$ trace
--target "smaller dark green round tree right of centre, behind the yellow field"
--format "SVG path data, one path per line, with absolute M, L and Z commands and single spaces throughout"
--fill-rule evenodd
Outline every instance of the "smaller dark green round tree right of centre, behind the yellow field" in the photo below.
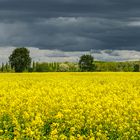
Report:
M 94 58 L 91 55 L 82 55 L 79 60 L 79 67 L 81 71 L 94 71 Z

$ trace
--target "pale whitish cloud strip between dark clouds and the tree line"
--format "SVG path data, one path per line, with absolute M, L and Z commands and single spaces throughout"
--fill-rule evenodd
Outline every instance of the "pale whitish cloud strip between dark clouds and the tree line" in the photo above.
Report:
M 0 47 L 0 64 L 8 62 L 8 57 L 16 47 Z M 35 47 L 28 47 L 34 61 L 39 62 L 77 62 L 81 55 L 89 54 L 88 51 L 64 52 L 60 50 L 41 50 Z M 103 61 L 131 61 L 140 60 L 140 51 L 134 50 L 92 50 L 95 60 Z

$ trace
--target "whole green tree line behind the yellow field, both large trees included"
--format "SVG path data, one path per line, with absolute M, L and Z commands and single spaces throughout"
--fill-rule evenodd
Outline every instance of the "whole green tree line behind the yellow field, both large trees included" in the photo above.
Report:
M 27 48 L 17 48 L 9 56 L 9 62 L 2 63 L 0 72 L 140 72 L 140 61 L 103 62 L 85 54 L 79 62 L 32 62 Z

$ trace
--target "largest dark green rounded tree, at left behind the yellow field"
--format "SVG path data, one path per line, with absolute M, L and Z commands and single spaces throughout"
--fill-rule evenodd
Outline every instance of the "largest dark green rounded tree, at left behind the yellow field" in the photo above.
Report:
M 9 63 L 15 72 L 28 70 L 31 65 L 30 52 L 27 48 L 16 48 L 9 56 Z

